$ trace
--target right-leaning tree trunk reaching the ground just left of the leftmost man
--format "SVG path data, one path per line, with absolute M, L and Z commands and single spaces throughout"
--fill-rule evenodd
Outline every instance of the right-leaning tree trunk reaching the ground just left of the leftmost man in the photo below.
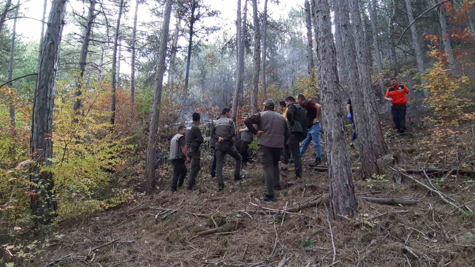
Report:
M 167 55 L 168 30 L 170 28 L 171 0 L 165 6 L 165 18 L 160 40 L 160 54 L 157 62 L 155 78 L 155 94 L 153 96 L 152 117 L 150 119 L 149 138 L 147 146 L 147 163 L 145 165 L 146 192 L 151 195 L 155 189 L 155 153 L 157 150 L 158 119 L 160 115 L 161 90 L 163 88 L 163 73 L 165 72 L 165 57 Z

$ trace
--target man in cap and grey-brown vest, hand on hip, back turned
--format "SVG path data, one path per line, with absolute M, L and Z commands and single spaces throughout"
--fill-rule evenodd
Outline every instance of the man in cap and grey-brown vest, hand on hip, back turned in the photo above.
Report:
M 290 135 L 284 116 L 274 111 L 275 105 L 269 98 L 264 102 L 264 112 L 244 120 L 247 128 L 257 135 L 257 156 L 264 168 L 267 188 L 266 195 L 260 198 L 262 201 L 275 201 L 274 189 L 280 190 L 279 160 Z M 257 129 L 253 124 L 257 124 Z

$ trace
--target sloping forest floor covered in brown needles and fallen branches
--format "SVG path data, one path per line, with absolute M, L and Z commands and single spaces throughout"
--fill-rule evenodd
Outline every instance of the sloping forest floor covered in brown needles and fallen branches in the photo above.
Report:
M 445 165 L 473 169 L 467 145 L 475 138 L 474 125 L 472 134 L 470 125 L 465 125 L 460 126 L 454 140 L 450 136 L 434 140 L 434 131 L 419 121 L 421 114 L 414 108 L 408 113 L 411 133 L 399 135 L 392 130 L 390 113 L 384 108 L 380 117 L 386 141 L 397 158 L 392 168 L 422 168 L 414 162 L 427 162 L 426 168 Z M 351 125 L 346 126 L 350 138 Z M 462 134 L 463 129 L 469 134 Z M 352 161 L 357 162 L 358 151 L 349 148 Z M 276 192 L 276 202 L 257 200 L 265 192 L 263 172 L 257 163 L 241 173 L 244 180 L 227 180 L 222 192 L 217 192 L 216 180 L 202 167 L 196 189 L 191 192 L 181 189 L 171 193 L 167 189 L 153 198 L 138 194 L 132 202 L 114 209 L 63 221 L 49 233 L 15 244 L 22 247 L 22 258 L 29 257 L 29 261 L 11 257 L 7 262 L 36 267 L 257 267 L 284 266 L 281 262 L 285 257 L 290 260 L 287 267 L 474 266 L 475 214 L 456 211 L 390 166 L 385 175 L 371 178 L 361 179 L 355 171 L 358 215 L 329 218 L 327 173 L 306 167 L 313 153 L 309 147 L 303 179 L 294 179 L 293 168 L 282 173 L 283 190 Z M 232 177 L 232 164 L 232 160 L 227 163 L 228 177 Z M 353 168 L 358 169 L 358 164 Z M 407 175 L 431 186 L 423 174 Z M 401 183 L 395 182 L 398 177 L 402 177 Z M 467 182 L 474 177 L 454 174 L 430 180 L 437 191 L 450 195 L 453 203 L 472 201 L 468 206 L 475 210 L 475 183 Z M 417 204 L 384 205 L 361 197 L 417 200 Z M 309 202 L 312 205 L 306 208 L 283 212 Z M 372 219 L 375 215 L 380 216 Z M 214 233 L 197 235 L 215 228 Z M 112 240 L 117 242 L 111 244 Z M 106 246 L 91 249 L 101 245 Z M 13 254 L 19 255 L 18 251 Z

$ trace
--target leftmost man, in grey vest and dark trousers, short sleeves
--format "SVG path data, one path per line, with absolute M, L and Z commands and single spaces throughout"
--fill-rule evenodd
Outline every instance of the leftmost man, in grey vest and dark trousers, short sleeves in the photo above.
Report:
M 186 169 L 185 161 L 190 162 L 190 158 L 186 157 L 186 142 L 185 142 L 186 127 L 178 127 L 178 133 L 171 138 L 170 142 L 170 160 L 173 166 L 173 178 L 171 179 L 171 191 L 177 191 L 178 187 L 183 185 L 185 180 Z

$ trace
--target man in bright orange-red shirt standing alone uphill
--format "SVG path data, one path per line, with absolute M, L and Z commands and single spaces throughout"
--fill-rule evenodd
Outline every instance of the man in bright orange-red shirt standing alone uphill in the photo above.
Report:
M 411 102 L 411 92 L 408 87 L 400 85 L 396 77 L 391 78 L 392 86 L 386 91 L 384 99 L 391 101 L 391 114 L 396 130 L 400 134 L 406 132 L 406 109 Z M 406 94 L 408 98 L 406 99 Z

